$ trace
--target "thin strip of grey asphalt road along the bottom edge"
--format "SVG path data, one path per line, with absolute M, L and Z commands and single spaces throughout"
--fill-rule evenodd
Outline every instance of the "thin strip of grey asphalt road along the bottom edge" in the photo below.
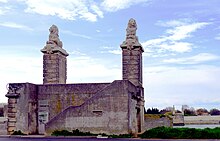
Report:
M 0 137 L 0 141 L 175 141 L 175 139 L 97 139 L 97 138 L 71 138 L 71 137 Z M 195 140 L 184 140 L 179 139 L 177 141 L 195 141 Z M 209 139 L 200 139 L 199 141 L 216 141 Z

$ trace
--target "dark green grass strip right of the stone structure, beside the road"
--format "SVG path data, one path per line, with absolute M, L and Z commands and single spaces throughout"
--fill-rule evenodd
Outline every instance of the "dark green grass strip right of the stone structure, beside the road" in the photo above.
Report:
M 220 128 L 170 128 L 157 127 L 145 131 L 141 138 L 161 138 L 161 139 L 220 139 Z

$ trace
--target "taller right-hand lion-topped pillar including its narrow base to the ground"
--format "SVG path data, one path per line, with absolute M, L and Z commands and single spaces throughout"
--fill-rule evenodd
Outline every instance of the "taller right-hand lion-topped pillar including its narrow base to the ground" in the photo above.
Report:
M 136 117 L 138 132 L 144 129 L 144 88 L 142 86 L 142 53 L 143 47 L 136 36 L 137 24 L 134 19 L 130 19 L 126 29 L 126 39 L 121 44 L 122 49 L 122 77 L 129 80 L 137 88 L 134 99 L 137 100 Z

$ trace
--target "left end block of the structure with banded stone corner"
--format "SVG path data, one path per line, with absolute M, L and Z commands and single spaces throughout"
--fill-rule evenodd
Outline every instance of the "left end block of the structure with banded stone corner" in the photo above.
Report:
M 17 89 L 17 90 L 16 90 Z M 8 133 L 21 130 L 37 133 L 37 86 L 30 83 L 10 83 L 8 99 Z

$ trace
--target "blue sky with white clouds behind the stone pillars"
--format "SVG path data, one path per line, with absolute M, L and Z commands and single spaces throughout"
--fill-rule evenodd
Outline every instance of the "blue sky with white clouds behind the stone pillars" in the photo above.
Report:
M 0 0 L 0 102 L 10 82 L 42 84 L 49 27 L 59 28 L 67 82 L 122 78 L 120 44 L 137 22 L 146 108 L 220 107 L 219 0 Z

